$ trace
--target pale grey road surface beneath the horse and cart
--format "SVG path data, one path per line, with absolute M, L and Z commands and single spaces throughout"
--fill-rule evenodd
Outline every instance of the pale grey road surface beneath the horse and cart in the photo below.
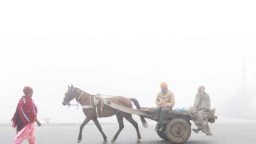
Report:
M 162 140 L 154 131 L 154 123 L 150 122 L 147 129 L 143 128 L 141 124 L 140 134 L 142 135 L 141 143 L 160 143 L 167 144 L 168 141 Z M 194 125 L 192 125 L 194 128 Z M 256 143 L 256 122 L 219 122 L 210 124 L 213 136 L 207 137 L 202 132 L 195 134 L 192 132 L 190 139 L 186 144 L 236 144 L 236 143 Z M 111 143 L 111 139 L 116 134 L 118 126 L 117 124 L 102 124 L 102 129 L 108 136 L 108 143 Z M 43 124 L 41 127 L 36 126 L 36 136 L 38 144 L 72 144 L 77 142 L 77 136 L 79 132 L 78 124 Z M 14 130 L 7 125 L 0 125 L 0 143 L 9 144 L 12 143 L 14 137 Z M 135 143 L 137 134 L 135 128 L 129 123 L 125 123 L 125 128 L 117 138 L 116 143 Z M 102 136 L 96 129 L 93 123 L 89 123 L 83 129 L 83 143 L 102 143 Z M 24 142 L 28 143 L 28 142 Z

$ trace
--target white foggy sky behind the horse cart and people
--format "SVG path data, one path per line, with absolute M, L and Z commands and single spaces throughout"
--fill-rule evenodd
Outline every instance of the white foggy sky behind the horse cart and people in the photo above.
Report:
M 175 107 L 192 106 L 204 85 L 220 120 L 255 120 L 255 4 L 1 1 L 0 122 L 11 121 L 24 86 L 39 120 L 63 123 L 84 119 L 61 103 L 68 84 L 154 107 L 161 82 Z

